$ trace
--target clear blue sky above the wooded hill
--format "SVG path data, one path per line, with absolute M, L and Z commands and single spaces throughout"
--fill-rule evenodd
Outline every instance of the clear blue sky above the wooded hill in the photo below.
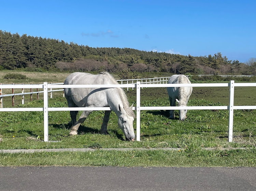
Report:
M 256 57 L 253 0 L 1 1 L 0 30 L 89 47 Z

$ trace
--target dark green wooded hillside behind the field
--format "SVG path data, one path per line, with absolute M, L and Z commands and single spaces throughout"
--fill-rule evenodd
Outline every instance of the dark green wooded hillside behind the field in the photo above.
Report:
M 0 70 L 255 74 L 254 61 L 248 64 L 228 60 L 220 52 L 213 56 L 184 56 L 130 48 L 92 48 L 0 30 Z

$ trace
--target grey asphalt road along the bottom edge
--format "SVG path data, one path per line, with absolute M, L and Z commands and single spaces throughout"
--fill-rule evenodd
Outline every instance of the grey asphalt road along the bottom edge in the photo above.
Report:
M 256 190 L 256 168 L 0 167 L 0 190 Z

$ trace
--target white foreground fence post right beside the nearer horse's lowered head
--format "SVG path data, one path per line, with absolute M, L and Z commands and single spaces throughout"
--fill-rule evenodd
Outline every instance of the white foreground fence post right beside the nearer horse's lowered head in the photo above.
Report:
M 136 84 L 136 139 L 140 141 L 140 82 Z

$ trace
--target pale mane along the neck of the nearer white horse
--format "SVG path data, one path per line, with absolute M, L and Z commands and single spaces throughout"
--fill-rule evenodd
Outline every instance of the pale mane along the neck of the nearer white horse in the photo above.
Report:
M 118 84 L 116 79 L 109 72 L 100 72 L 99 74 L 108 75 L 109 79 L 111 79 L 112 84 Z M 124 110 L 126 111 L 126 114 L 135 119 L 136 118 L 135 114 L 129 106 L 128 98 L 125 94 L 125 91 L 123 90 L 123 88 L 117 88 L 117 92 L 119 93 L 119 96 L 123 102 L 123 106 L 124 106 Z

